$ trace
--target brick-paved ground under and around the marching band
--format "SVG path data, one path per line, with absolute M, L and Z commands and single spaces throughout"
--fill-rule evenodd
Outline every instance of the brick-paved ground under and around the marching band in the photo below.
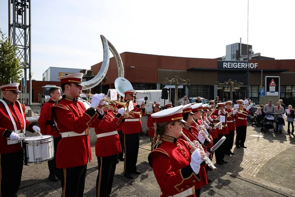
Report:
M 226 156 L 228 164 L 218 165 L 217 172 L 208 172 L 212 183 L 202 189 L 201 197 L 293 197 L 295 196 L 295 136 L 261 133 L 260 128 L 247 128 L 247 149 L 233 148 L 235 155 Z M 97 159 L 95 135 L 90 132 L 92 161 L 88 164 L 85 197 L 95 197 Z M 113 184 L 112 197 L 159 197 L 160 188 L 148 164 L 150 142 L 142 136 L 138 156 L 138 170 L 130 180 L 123 176 L 123 162 L 119 162 Z M 215 159 L 215 158 L 214 158 Z M 213 160 L 215 163 L 215 161 Z M 60 182 L 48 180 L 47 162 L 24 166 L 18 197 L 60 197 Z

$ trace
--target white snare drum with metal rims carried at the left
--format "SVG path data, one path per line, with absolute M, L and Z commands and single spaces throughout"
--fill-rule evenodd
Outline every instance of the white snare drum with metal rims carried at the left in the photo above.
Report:
M 25 156 L 27 156 L 27 163 L 41 164 L 54 158 L 52 135 L 25 138 L 23 147 L 25 149 Z

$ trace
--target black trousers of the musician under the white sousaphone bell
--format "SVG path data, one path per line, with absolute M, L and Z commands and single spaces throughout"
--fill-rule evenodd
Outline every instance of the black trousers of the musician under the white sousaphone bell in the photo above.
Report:
M 134 173 L 136 171 L 136 163 L 139 149 L 139 133 L 124 134 L 124 148 L 124 173 Z

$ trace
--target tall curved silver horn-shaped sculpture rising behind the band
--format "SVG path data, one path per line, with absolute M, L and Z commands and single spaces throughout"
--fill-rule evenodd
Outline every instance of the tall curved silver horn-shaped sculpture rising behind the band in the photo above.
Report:
M 110 64 L 110 51 L 114 55 L 114 58 L 116 60 L 117 66 L 118 66 L 118 77 L 124 77 L 124 67 L 123 62 L 121 59 L 120 54 L 118 53 L 117 49 L 114 47 L 114 45 L 107 39 L 105 36 L 100 35 L 101 41 L 102 41 L 102 47 L 103 47 L 103 62 L 101 65 L 101 68 L 97 75 L 89 80 L 82 82 L 85 87 L 83 87 L 83 90 L 89 90 L 95 86 L 97 86 L 103 78 L 106 76 L 107 71 L 109 69 Z M 109 51 L 110 50 L 110 51 Z M 33 116 L 28 117 L 27 120 L 30 123 L 38 123 L 39 116 Z

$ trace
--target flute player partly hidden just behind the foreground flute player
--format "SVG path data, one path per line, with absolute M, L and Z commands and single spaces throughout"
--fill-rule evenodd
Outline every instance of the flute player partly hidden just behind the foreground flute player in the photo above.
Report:
M 193 116 L 194 113 L 192 112 L 191 104 L 184 105 L 182 108 L 182 117 L 183 120 L 186 121 L 184 123 L 184 127 L 182 128 L 182 132 L 190 139 L 190 141 L 198 140 L 199 137 L 199 130 L 196 127 L 191 127 L 191 124 L 193 123 Z M 203 131 L 202 134 L 203 138 L 205 138 L 206 133 Z M 180 136 L 181 139 L 185 140 L 183 135 Z M 206 165 L 201 165 L 199 175 L 201 177 L 200 182 L 196 182 L 195 185 L 195 193 L 196 195 L 200 195 L 201 188 L 204 185 L 207 185 L 207 172 L 206 172 Z

